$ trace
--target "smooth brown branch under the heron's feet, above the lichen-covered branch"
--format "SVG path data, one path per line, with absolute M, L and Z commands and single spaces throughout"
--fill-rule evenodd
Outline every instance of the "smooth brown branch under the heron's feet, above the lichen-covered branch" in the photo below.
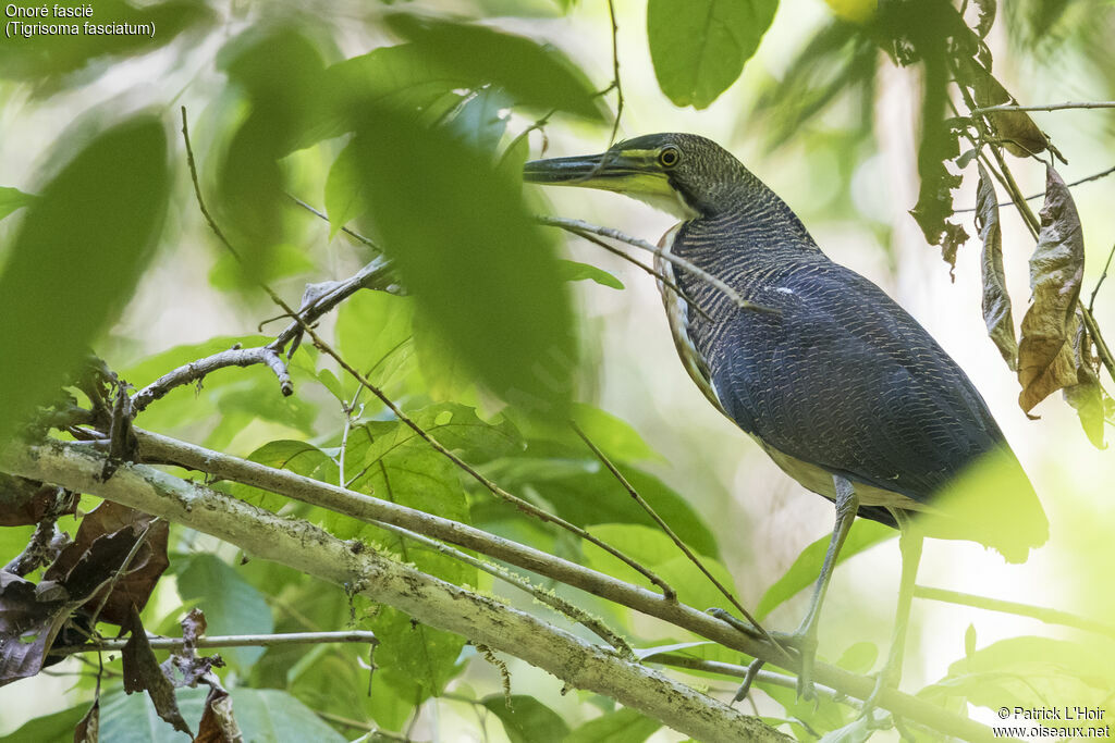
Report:
M 618 580 L 556 555 L 543 553 L 465 524 L 345 490 L 294 472 L 265 467 L 142 429 L 136 429 L 135 433 L 139 441 L 139 456 L 144 461 L 172 463 L 185 469 L 198 470 L 205 472 L 207 477 L 256 487 L 312 506 L 328 508 L 369 524 L 395 524 L 584 590 L 681 627 L 725 647 L 777 664 L 788 671 L 796 671 L 799 667 L 796 659 L 793 662 L 783 659 L 773 645 L 752 638 L 705 612 L 677 600 L 666 599 L 651 590 Z M 100 461 L 100 458 L 96 453 L 97 446 L 95 443 L 54 444 L 46 450 L 40 447 L 32 453 L 21 457 L 18 461 L 11 460 L 13 456 L 11 452 L 0 453 L 0 469 L 7 467 L 13 473 L 38 480 L 67 479 L 72 473 L 72 466 L 69 462 L 81 466 L 84 471 L 85 466 L 81 463 L 85 458 L 94 457 L 94 463 L 89 467 L 98 466 L 97 462 Z M 81 454 L 83 450 L 88 451 L 88 453 Z M 43 451 L 58 453 L 51 454 L 50 462 L 45 462 L 42 461 Z M 59 458 L 62 461 L 58 461 Z M 13 463 L 9 463 L 6 459 Z M 126 467 L 130 468 L 128 469 L 129 473 L 133 471 L 140 473 L 154 471 L 144 466 L 128 465 Z M 52 475 L 49 477 L 37 476 L 37 473 L 45 471 L 52 472 Z M 115 482 L 117 477 L 119 475 L 114 477 L 110 482 Z M 60 482 L 60 485 L 65 486 L 66 482 Z M 97 495 L 103 489 L 100 486 L 97 488 L 86 489 L 83 492 Z M 873 678 L 853 674 L 825 663 L 817 663 L 813 675 L 817 683 L 860 700 L 867 698 L 875 688 Z M 896 691 L 884 690 L 881 692 L 879 706 L 894 713 L 895 716 L 929 725 L 950 735 L 976 741 L 991 740 L 988 730 L 982 725 Z

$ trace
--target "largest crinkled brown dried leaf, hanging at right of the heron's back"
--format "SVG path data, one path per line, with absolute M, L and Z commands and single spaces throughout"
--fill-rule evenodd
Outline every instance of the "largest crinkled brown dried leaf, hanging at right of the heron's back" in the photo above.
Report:
M 1018 404 L 1026 412 L 1050 393 L 1077 384 L 1073 340 L 1084 276 L 1084 233 L 1073 195 L 1046 169 L 1041 231 L 1030 256 L 1031 302 L 1018 344 Z

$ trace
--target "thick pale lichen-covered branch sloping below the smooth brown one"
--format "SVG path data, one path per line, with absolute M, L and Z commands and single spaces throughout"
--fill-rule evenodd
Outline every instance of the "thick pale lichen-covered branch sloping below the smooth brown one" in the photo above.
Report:
M 105 457 L 75 446 L 80 444 L 8 449 L 0 460 L 23 477 L 65 480 L 65 487 L 72 490 L 154 514 L 235 545 L 260 559 L 350 586 L 355 593 L 392 606 L 418 622 L 522 658 L 571 687 L 610 696 L 698 740 L 791 740 L 657 671 L 374 550 L 353 550 L 352 542 L 303 520 L 280 517 L 143 465 L 123 465 L 112 479 L 101 481 Z M 986 731 L 981 725 L 973 730 Z M 990 735 L 985 733 L 985 737 Z

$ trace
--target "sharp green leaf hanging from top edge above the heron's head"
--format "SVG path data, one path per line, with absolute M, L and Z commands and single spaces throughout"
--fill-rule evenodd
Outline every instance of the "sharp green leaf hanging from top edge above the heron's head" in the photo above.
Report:
M 655 75 L 676 106 L 706 108 L 758 49 L 777 0 L 650 0 L 647 38 Z

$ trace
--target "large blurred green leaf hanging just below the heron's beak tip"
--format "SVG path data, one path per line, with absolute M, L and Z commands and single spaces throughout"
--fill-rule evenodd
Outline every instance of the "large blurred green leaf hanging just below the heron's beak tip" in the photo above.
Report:
M 367 111 L 357 141 L 384 248 L 438 336 L 508 401 L 566 407 L 576 368 L 569 297 L 518 185 L 395 111 Z

